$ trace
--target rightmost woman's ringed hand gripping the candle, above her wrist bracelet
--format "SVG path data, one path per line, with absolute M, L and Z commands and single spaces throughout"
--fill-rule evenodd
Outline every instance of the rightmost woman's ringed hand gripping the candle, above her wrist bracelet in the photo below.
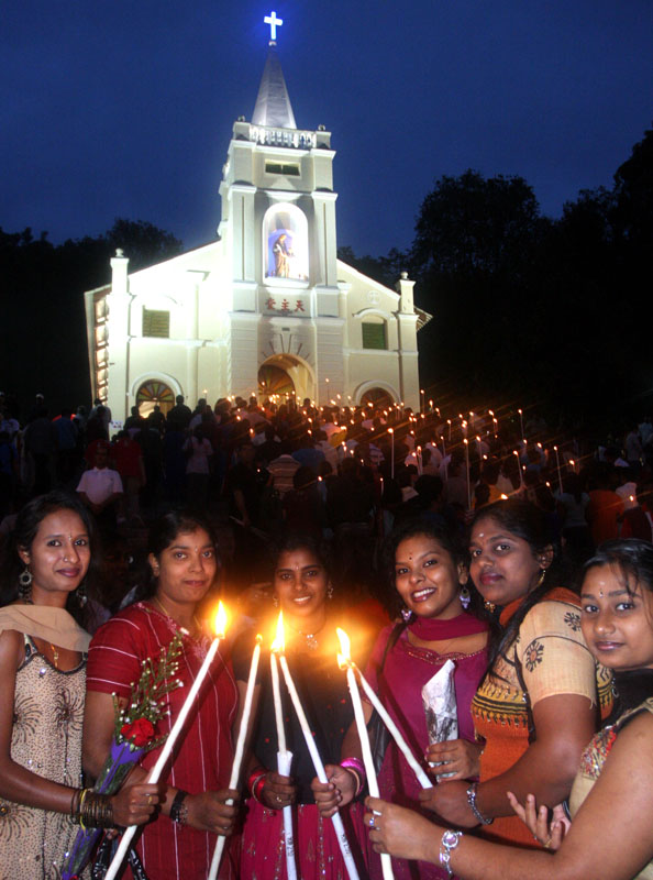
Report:
M 398 859 L 438 862 L 444 828 L 412 810 L 378 798 L 366 798 L 365 806 L 367 813 L 363 821 L 369 828 L 375 853 L 389 853 Z

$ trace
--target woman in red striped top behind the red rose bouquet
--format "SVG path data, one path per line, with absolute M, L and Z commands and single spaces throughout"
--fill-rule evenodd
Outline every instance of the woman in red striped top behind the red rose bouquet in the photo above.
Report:
M 158 657 L 177 632 L 182 652 L 178 678 L 184 686 L 169 695 L 171 729 L 188 689 L 192 685 L 214 634 L 198 618 L 199 603 L 215 579 L 215 540 L 200 517 L 170 513 L 152 527 L 148 562 L 152 584 L 146 600 L 129 606 L 100 627 L 89 651 L 87 702 L 84 723 L 84 763 L 97 776 L 109 752 L 113 734 L 113 700 L 126 701 L 131 683 L 148 657 Z M 231 835 L 237 812 L 228 789 L 233 760 L 231 729 L 239 695 L 231 667 L 219 650 L 201 686 L 197 710 L 177 741 L 169 769 L 164 771 L 161 814 L 137 842 L 137 853 L 152 880 L 206 880 L 215 834 Z M 145 778 L 161 749 L 150 751 L 133 771 Z M 229 845 L 221 861 L 221 880 L 235 880 L 237 846 Z M 129 869 L 125 877 L 130 877 Z

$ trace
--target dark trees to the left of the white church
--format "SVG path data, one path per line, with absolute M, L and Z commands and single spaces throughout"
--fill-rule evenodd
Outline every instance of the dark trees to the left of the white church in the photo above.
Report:
M 117 248 L 130 270 L 144 268 L 181 250 L 169 232 L 143 220 L 118 218 L 103 235 L 48 241 L 0 229 L 0 346 L 2 389 L 19 399 L 45 395 L 55 415 L 63 405 L 88 404 L 90 384 L 84 292 L 109 283 Z

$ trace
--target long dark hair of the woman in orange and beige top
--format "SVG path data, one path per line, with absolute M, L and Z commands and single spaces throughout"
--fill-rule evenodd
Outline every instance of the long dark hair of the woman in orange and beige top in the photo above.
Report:
M 508 501 L 495 502 L 494 504 L 487 505 L 487 507 L 483 507 L 472 521 L 469 537 L 472 536 L 474 527 L 485 519 L 494 519 L 507 532 L 525 541 L 531 548 L 533 557 L 538 557 L 550 548 L 552 548 L 554 552 L 553 561 L 544 571 L 542 582 L 527 595 L 517 612 L 510 618 L 506 629 L 500 627 L 498 619 L 490 618 L 487 675 L 490 672 L 496 674 L 494 667 L 500 657 L 507 659 L 506 651 L 514 641 L 523 618 L 533 605 L 536 605 L 552 588 L 552 585 L 562 578 L 562 570 L 560 560 L 555 556 L 555 542 L 553 541 L 546 517 L 534 504 L 519 498 L 509 498 Z

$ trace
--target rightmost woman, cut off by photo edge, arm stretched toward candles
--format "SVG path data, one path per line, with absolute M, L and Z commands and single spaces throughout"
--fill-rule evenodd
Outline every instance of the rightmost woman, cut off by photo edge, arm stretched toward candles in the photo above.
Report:
M 583 751 L 569 799 L 573 821 L 528 795 L 516 812 L 549 851 L 497 846 L 370 800 L 378 851 L 446 865 L 464 880 L 653 878 L 653 547 L 609 541 L 585 565 L 580 626 L 589 650 L 615 672 L 617 697 Z

